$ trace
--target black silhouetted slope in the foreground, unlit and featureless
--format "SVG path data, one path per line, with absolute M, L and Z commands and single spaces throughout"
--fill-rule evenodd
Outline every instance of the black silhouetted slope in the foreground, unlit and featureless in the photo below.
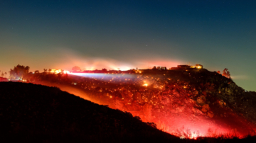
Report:
M 178 138 L 130 113 L 59 88 L 0 83 L 1 139 L 16 142 L 167 142 Z

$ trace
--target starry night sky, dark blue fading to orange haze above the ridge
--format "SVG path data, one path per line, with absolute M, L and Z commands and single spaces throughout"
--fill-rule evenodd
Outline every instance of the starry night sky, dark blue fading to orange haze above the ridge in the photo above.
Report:
M 256 1 L 0 1 L 0 70 L 228 68 L 256 91 Z

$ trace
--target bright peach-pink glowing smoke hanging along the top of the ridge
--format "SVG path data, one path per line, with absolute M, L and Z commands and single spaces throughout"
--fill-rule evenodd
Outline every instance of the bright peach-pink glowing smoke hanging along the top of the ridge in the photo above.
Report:
M 107 70 L 129 70 L 129 69 L 151 69 L 154 66 L 163 66 L 167 68 L 176 67 L 178 64 L 184 63 L 178 60 L 165 59 L 163 57 L 154 56 L 149 59 L 131 58 L 129 62 L 107 58 L 107 57 L 88 57 L 81 55 L 73 50 L 61 49 L 60 57 L 63 61 L 56 63 L 53 68 L 71 70 L 72 67 L 78 66 L 84 70 L 107 69 Z M 123 59 L 126 60 L 126 59 Z

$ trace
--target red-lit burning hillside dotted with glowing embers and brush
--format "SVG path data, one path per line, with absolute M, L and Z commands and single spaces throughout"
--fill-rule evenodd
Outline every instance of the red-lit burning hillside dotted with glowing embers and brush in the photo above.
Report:
M 206 69 L 38 74 L 73 84 L 97 103 L 128 111 L 178 137 L 242 137 L 255 132 L 255 101 L 231 79 Z

